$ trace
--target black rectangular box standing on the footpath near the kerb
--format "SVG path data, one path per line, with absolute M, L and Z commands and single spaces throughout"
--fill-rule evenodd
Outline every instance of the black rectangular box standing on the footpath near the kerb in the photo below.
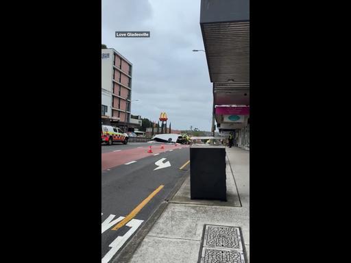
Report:
M 190 197 L 227 201 L 226 147 L 190 147 Z

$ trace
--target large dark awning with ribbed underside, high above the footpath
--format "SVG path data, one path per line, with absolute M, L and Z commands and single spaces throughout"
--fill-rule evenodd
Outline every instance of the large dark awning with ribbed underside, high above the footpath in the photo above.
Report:
M 250 1 L 202 0 L 200 27 L 213 104 L 250 105 Z

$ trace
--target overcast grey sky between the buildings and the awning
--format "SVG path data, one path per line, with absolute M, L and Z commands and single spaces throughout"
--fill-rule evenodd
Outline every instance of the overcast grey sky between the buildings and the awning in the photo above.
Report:
M 210 131 L 212 84 L 199 26 L 200 0 L 102 0 L 101 43 L 133 64 L 132 114 L 173 129 Z M 150 38 L 115 38 L 116 31 L 149 31 Z M 169 124 L 169 122 L 167 123 Z

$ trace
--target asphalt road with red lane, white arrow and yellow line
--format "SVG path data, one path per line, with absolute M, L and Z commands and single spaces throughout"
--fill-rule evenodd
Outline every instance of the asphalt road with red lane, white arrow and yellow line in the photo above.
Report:
M 147 153 L 149 145 L 101 146 L 101 262 L 112 262 L 189 169 L 189 147 L 153 144 Z

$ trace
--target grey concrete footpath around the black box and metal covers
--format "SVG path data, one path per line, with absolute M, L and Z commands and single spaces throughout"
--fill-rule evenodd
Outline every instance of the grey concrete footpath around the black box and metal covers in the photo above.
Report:
M 130 262 L 199 262 L 205 224 L 240 227 L 239 236 L 243 244 L 245 262 L 249 262 L 250 152 L 239 148 L 226 148 L 226 153 L 228 201 L 191 200 L 190 183 L 187 178 L 136 249 Z M 223 257 L 223 254 L 219 255 Z M 204 262 L 214 261 L 207 258 Z M 228 254 L 226 262 L 241 263 L 243 260 L 237 260 L 232 254 Z

